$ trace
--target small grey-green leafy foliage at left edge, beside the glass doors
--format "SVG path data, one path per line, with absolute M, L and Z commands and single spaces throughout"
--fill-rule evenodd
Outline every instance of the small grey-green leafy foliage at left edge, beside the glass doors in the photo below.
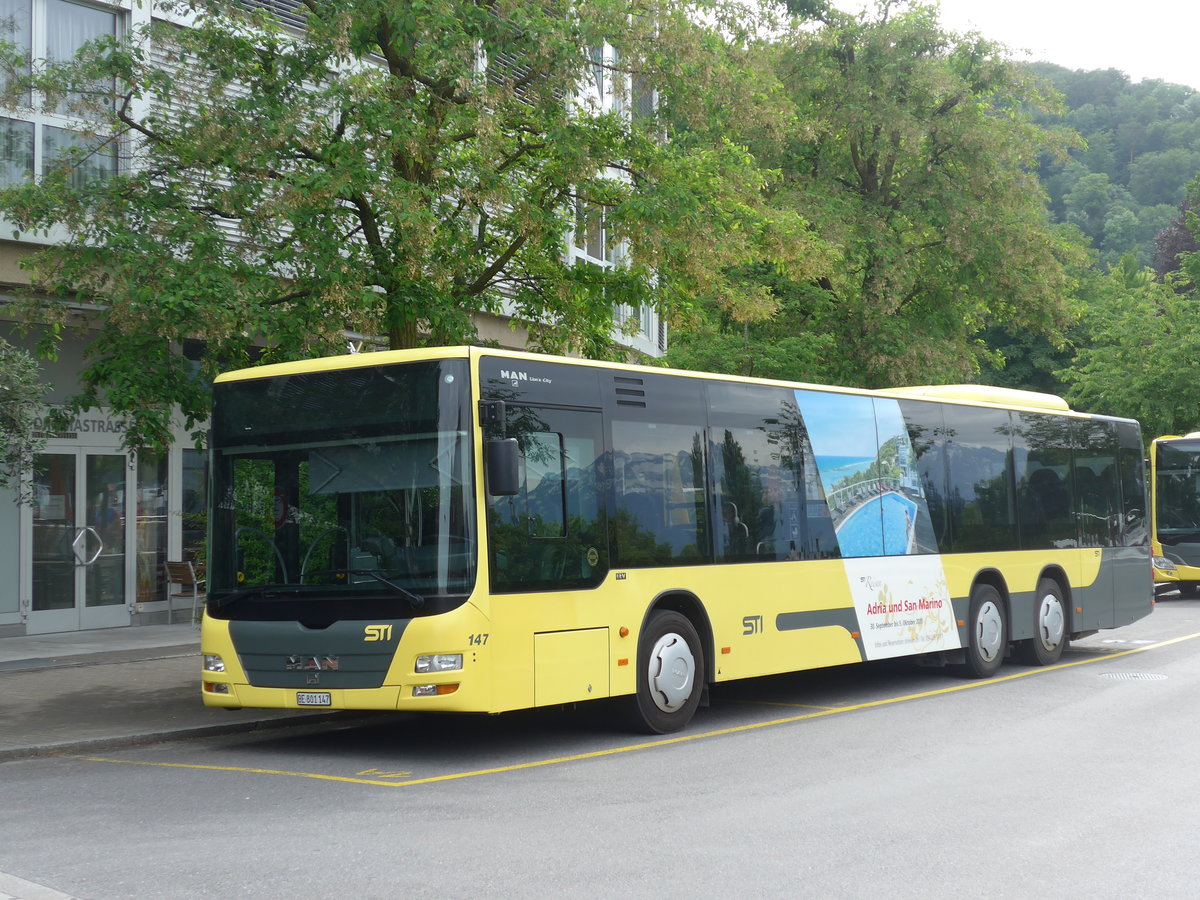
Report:
M 22 478 L 42 444 L 38 418 L 49 385 L 40 378 L 37 360 L 0 337 L 0 490 L 28 500 Z

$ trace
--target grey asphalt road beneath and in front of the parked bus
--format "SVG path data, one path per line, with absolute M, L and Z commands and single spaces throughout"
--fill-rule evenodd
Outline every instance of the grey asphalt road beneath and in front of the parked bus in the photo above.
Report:
M 1198 652 L 1166 600 L 989 682 L 720 685 L 660 739 L 583 706 L 13 761 L 0 898 L 1194 898 Z

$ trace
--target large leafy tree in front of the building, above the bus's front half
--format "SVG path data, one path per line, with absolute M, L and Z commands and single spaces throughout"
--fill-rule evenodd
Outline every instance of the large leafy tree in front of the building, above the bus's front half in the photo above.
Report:
M 618 305 L 744 311 L 763 293 L 731 266 L 816 268 L 742 148 L 673 139 L 718 92 L 750 118 L 769 92 L 733 74 L 750 5 L 307 0 L 301 29 L 244 7 L 170 0 L 187 28 L 155 19 L 8 79 L 10 107 L 94 124 L 0 211 L 70 234 L 30 259 L 31 314 L 102 307 L 74 402 L 125 414 L 134 446 L 169 440 L 173 407 L 202 420 L 208 379 L 252 354 L 336 353 L 347 330 L 472 341 L 482 311 L 535 349 L 605 356 Z M 114 145 L 130 164 L 84 178 Z M 568 236 L 601 222 L 602 264 L 569 264 Z M 173 349 L 186 338 L 204 342 L 199 377 Z

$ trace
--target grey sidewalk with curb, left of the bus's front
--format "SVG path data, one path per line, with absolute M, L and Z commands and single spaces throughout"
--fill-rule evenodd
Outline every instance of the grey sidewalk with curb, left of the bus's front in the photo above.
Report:
M 200 632 L 191 624 L 0 637 L 0 762 L 336 715 L 210 709 L 199 683 Z

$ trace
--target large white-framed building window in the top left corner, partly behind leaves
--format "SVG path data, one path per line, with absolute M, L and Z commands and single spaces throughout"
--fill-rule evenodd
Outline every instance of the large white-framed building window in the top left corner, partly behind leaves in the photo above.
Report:
M 118 13 L 109 8 L 68 0 L 0 0 L 0 34 L 25 52 L 25 73 L 34 60 L 70 60 L 89 41 L 115 36 L 119 26 Z M 0 184 L 30 181 L 77 148 L 86 152 L 71 174 L 73 186 L 116 174 L 115 145 L 92 134 L 79 118 L 82 95 L 68 95 L 54 107 L 29 95 L 22 101 L 22 109 L 0 116 Z

